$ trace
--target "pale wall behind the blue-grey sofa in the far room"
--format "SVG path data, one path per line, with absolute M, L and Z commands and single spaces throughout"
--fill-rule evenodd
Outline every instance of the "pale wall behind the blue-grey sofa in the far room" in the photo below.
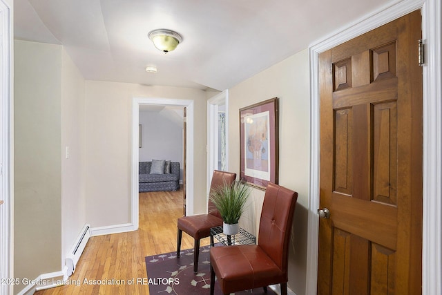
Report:
M 161 111 L 140 111 L 142 125 L 142 148 L 139 149 L 140 162 L 172 160 L 183 158 L 183 108 L 161 108 Z M 182 176 L 180 178 L 182 180 Z

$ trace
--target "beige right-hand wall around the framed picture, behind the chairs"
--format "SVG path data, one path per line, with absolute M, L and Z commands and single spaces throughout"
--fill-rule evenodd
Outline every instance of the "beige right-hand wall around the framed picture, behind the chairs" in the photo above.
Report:
M 289 288 L 305 294 L 307 272 L 307 204 L 309 198 L 309 59 L 303 50 L 234 86 L 229 91 L 229 166 L 239 173 L 239 109 L 279 97 L 279 184 L 297 191 L 289 253 Z M 264 191 L 253 189 L 242 226 L 256 232 Z

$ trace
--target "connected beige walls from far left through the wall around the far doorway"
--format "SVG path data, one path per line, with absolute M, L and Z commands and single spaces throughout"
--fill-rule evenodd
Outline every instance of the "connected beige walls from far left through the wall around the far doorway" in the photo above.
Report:
M 15 277 L 59 272 L 85 222 L 131 222 L 133 97 L 194 101 L 193 210 L 205 211 L 204 91 L 85 82 L 62 46 L 15 41 Z

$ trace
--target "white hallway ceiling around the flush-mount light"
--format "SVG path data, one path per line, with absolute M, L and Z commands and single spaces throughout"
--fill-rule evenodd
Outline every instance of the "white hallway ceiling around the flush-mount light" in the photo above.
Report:
M 14 30 L 62 44 L 85 79 L 222 91 L 389 2 L 15 0 Z M 147 37 L 157 28 L 179 32 L 182 44 L 157 50 Z

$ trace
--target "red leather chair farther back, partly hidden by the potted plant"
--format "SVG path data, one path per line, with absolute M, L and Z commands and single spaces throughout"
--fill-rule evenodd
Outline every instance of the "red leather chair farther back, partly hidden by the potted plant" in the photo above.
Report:
M 221 185 L 231 185 L 236 180 L 236 173 L 213 171 L 210 189 Z M 200 254 L 200 239 L 210 236 L 211 227 L 222 225 L 222 217 L 215 205 L 209 199 L 207 214 L 184 216 L 178 218 L 177 257 L 180 257 L 182 232 L 184 231 L 195 240 L 193 247 L 193 272 L 198 272 L 198 256 Z

